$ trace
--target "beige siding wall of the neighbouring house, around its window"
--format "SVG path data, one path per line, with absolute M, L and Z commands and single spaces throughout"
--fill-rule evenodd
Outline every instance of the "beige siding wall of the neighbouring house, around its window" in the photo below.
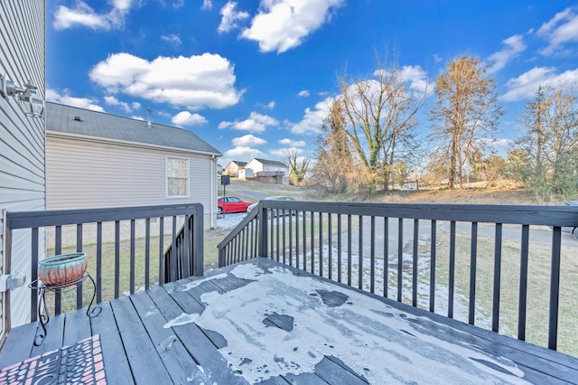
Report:
M 189 159 L 186 198 L 166 195 L 167 156 Z M 205 228 L 217 210 L 217 192 L 210 188 L 216 183 L 216 165 L 209 155 L 70 139 L 49 131 L 46 164 L 47 210 L 200 202 Z

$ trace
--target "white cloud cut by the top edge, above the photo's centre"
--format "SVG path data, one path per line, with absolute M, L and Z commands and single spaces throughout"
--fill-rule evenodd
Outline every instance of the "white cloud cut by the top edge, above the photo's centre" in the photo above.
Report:
M 285 52 L 301 44 L 343 3 L 344 0 L 262 0 L 259 13 L 241 37 L 258 42 L 262 52 Z

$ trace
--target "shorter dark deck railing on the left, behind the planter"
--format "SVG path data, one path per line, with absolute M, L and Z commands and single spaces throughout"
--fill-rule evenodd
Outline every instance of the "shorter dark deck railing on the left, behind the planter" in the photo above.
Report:
M 184 223 L 185 230 L 177 236 L 179 221 Z M 22 241 L 28 237 L 27 233 L 31 239 L 23 241 L 31 245 L 29 253 L 14 256 L 13 239 L 19 236 Z M 87 271 L 95 280 L 97 303 L 183 277 L 202 276 L 203 208 L 200 203 L 190 203 L 7 212 L 6 273 L 11 273 L 14 258 L 30 258 L 31 321 L 37 319 L 38 296 L 34 288 L 39 285 L 39 258 L 69 251 L 87 252 Z M 76 288 L 76 308 L 87 305 L 87 292 L 91 292 L 92 287 L 84 286 Z M 66 310 L 61 292 L 55 292 L 52 301 L 54 314 Z

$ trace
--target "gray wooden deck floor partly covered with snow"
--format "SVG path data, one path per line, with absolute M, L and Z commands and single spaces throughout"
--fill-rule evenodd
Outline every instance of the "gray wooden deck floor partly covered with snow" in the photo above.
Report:
M 578 383 L 576 358 L 266 258 L 100 305 L 39 347 L 14 328 L 0 368 L 98 336 L 109 384 Z

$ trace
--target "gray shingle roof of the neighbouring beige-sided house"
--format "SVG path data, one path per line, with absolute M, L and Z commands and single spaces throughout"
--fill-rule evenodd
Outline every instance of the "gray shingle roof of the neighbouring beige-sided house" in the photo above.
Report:
M 143 120 L 53 102 L 46 102 L 45 116 L 46 129 L 51 131 L 222 155 L 193 132 L 178 127 L 152 123 L 149 128 Z

